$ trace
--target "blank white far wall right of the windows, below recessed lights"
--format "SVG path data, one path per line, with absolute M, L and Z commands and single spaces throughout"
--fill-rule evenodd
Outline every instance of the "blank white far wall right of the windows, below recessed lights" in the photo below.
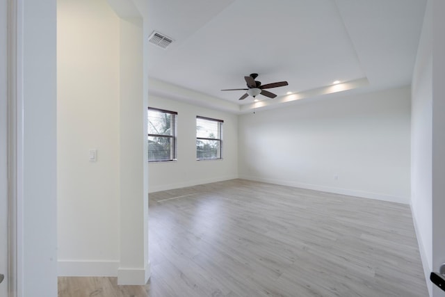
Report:
M 241 115 L 238 147 L 241 178 L 408 203 L 410 88 Z

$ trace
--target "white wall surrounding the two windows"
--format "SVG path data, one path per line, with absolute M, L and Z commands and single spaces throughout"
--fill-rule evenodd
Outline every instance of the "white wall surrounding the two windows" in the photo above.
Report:
M 220 182 L 238 177 L 238 116 L 149 95 L 148 106 L 177 111 L 177 161 L 150 162 L 150 192 Z M 223 159 L 196 160 L 196 116 L 224 120 Z

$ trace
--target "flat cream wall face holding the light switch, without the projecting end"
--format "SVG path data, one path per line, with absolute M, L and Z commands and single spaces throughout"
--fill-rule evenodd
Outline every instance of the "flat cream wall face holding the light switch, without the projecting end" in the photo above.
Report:
M 58 0 L 57 14 L 58 274 L 116 275 L 120 19 L 106 0 Z

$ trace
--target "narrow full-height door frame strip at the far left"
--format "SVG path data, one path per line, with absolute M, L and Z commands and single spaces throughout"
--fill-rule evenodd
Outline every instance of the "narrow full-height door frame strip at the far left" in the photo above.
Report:
M 23 0 L 8 0 L 8 294 L 23 296 Z

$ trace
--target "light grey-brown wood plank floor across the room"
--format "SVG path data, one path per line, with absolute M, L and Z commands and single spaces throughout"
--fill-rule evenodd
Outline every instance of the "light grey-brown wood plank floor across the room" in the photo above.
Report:
M 242 179 L 150 194 L 149 257 L 58 296 L 428 296 L 409 206 Z

